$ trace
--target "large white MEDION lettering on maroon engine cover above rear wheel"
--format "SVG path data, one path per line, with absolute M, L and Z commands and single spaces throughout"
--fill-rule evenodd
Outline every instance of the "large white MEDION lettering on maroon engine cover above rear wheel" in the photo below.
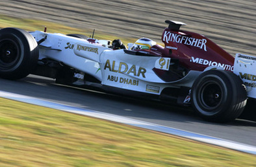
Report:
M 202 65 L 222 67 L 222 68 L 224 68 L 224 70 L 228 70 L 228 71 L 233 71 L 234 70 L 234 66 L 227 65 L 227 64 L 224 64 L 224 63 L 218 63 L 216 61 L 206 60 L 206 59 L 203 59 L 203 58 L 194 58 L 193 56 L 191 57 L 190 62 L 198 63 L 198 64 L 202 64 Z

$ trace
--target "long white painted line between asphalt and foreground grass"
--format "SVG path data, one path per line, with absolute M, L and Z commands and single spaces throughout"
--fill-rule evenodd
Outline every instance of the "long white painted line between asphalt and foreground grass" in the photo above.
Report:
M 157 124 L 152 124 L 152 123 L 149 123 L 149 122 L 135 120 L 135 119 L 132 119 L 132 118 L 120 117 L 118 115 L 112 115 L 112 114 L 109 114 L 109 113 L 103 113 L 103 112 L 99 112 L 99 111 L 81 109 L 81 108 L 78 108 L 78 107 L 66 106 L 64 104 L 58 104 L 58 103 L 55 103 L 55 102 L 40 100 L 38 98 L 32 98 L 30 96 L 17 95 L 17 94 L 8 93 L 8 92 L 5 92 L 5 91 L 0 91 L 0 96 L 3 97 L 3 98 L 16 100 L 16 101 L 19 101 L 19 102 L 35 104 L 35 105 L 38 105 L 38 106 L 49 107 L 49 108 L 53 108 L 53 109 L 58 109 L 58 110 L 70 112 L 70 113 L 77 113 L 77 114 L 81 114 L 81 115 L 87 115 L 87 116 L 90 116 L 90 117 L 102 118 L 102 119 L 110 120 L 110 121 L 113 121 L 113 122 L 119 122 L 119 123 L 122 123 L 122 124 L 136 126 L 136 127 L 139 127 L 139 128 L 145 128 L 145 129 L 151 129 L 151 130 L 154 130 L 154 131 L 160 131 L 162 133 L 177 135 L 179 137 L 185 137 L 187 139 L 197 140 L 199 142 L 214 144 L 216 146 L 222 146 L 224 148 L 229 148 L 229 149 L 232 149 L 232 150 L 242 151 L 242 152 L 251 153 L 251 154 L 256 155 L 256 147 L 255 146 L 250 146 L 250 145 L 246 145 L 246 144 L 242 144 L 242 143 L 238 143 L 238 142 L 233 142 L 233 141 L 230 141 L 230 140 L 218 139 L 218 138 L 215 138 L 215 137 L 200 135 L 198 133 L 191 133 L 189 131 L 183 131 L 183 130 L 180 130 L 180 129 L 174 129 L 174 128 L 169 128 L 169 127 L 166 127 L 166 126 L 160 126 L 160 125 L 157 125 Z

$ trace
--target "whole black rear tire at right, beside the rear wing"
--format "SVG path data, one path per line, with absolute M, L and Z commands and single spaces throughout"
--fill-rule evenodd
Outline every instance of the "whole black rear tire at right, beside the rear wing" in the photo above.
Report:
M 205 71 L 196 78 L 191 91 L 192 106 L 205 120 L 229 122 L 239 117 L 247 101 L 246 87 L 233 72 Z

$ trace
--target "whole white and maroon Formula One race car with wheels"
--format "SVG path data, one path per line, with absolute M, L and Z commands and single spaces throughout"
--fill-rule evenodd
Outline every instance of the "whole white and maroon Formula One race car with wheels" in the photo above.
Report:
M 238 118 L 246 103 L 256 100 L 256 57 L 234 58 L 205 36 L 180 30 L 184 23 L 165 22 L 165 47 L 132 50 L 114 50 L 111 41 L 82 34 L 2 28 L 0 77 L 36 74 L 57 83 L 192 106 L 212 122 Z

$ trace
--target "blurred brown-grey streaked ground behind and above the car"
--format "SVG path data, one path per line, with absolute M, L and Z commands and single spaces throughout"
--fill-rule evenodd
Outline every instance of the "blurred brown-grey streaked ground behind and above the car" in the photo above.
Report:
M 0 6 L 0 14 L 82 28 L 87 36 L 95 28 L 96 33 L 146 37 L 159 44 L 167 27 L 164 21 L 182 21 L 187 24 L 183 30 L 207 36 L 232 56 L 237 52 L 256 56 L 255 0 L 1 0 Z

